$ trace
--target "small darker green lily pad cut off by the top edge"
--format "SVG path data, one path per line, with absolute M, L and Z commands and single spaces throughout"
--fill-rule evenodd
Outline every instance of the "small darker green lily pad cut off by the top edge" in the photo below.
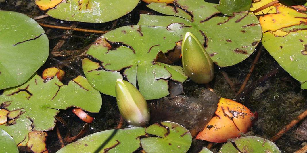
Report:
M 252 0 L 220 0 L 220 5 L 216 6 L 221 13 L 233 16 L 233 12 L 248 11 L 251 8 Z

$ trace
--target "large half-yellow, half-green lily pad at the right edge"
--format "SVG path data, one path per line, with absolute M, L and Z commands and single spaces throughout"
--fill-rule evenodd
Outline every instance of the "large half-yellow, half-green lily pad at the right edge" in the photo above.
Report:
M 262 44 L 291 76 L 307 89 L 307 14 L 275 4 L 276 14 L 259 18 Z M 274 44 L 274 45 L 272 45 Z

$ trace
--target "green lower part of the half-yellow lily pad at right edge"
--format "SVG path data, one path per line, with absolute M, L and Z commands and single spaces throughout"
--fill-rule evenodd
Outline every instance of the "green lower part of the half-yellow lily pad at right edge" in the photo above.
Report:
M 307 30 L 290 32 L 285 36 L 275 36 L 270 32 L 263 34 L 262 44 L 274 59 L 291 76 L 307 89 Z M 274 44 L 274 45 L 272 45 Z

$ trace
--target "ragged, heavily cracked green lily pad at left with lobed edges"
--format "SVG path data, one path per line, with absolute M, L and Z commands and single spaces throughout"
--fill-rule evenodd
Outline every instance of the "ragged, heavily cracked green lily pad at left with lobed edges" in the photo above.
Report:
M 4 90 L 0 95 L 0 106 L 10 111 L 7 117 L 11 119 L 0 128 L 6 130 L 16 144 L 25 145 L 29 132 L 54 128 L 54 117 L 59 109 L 74 106 L 99 112 L 101 105 L 100 93 L 83 76 L 64 85 L 57 78 L 46 82 L 36 75 L 25 84 Z

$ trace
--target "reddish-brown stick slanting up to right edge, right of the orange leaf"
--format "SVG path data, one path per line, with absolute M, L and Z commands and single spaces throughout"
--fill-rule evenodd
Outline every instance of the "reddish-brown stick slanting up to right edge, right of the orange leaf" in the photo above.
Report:
M 284 128 L 282 128 L 280 131 L 278 131 L 273 137 L 271 137 L 271 141 L 275 142 L 280 137 L 282 137 L 283 134 L 285 134 L 287 131 L 289 131 L 293 126 L 295 126 L 298 122 L 303 120 L 307 117 L 307 110 L 305 110 L 303 113 L 299 114 L 294 120 L 292 120 L 288 125 L 286 125 Z

